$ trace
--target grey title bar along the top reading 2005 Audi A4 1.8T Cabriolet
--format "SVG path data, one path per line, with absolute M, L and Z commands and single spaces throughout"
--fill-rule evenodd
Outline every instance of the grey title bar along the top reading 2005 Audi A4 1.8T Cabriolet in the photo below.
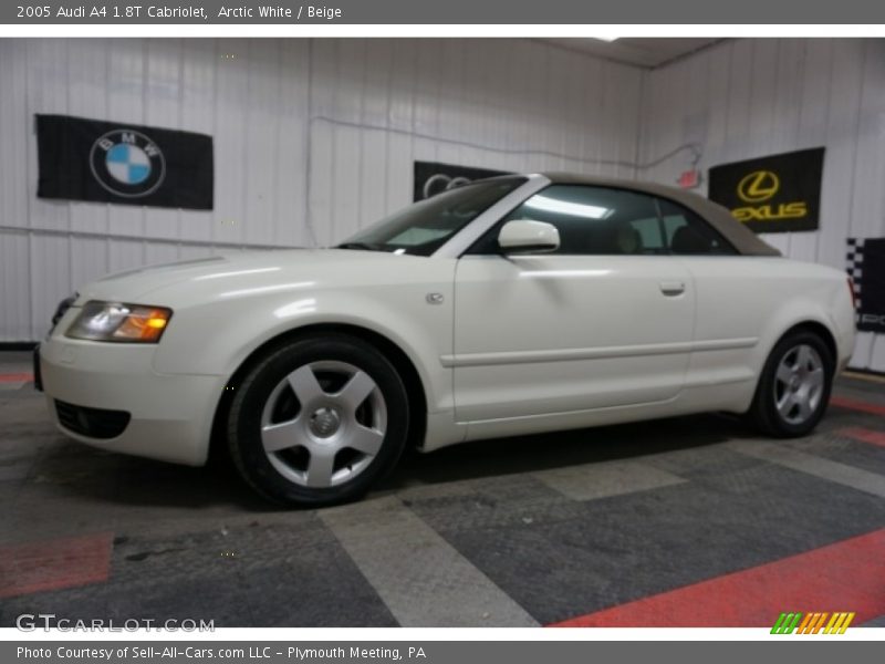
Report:
M 192 0 L 0 3 L 0 24 L 876 24 L 870 0 Z M 591 35 L 589 35 L 591 37 Z

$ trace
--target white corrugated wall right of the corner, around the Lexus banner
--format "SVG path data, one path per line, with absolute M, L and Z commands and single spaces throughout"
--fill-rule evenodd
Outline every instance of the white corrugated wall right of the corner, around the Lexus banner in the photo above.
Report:
M 792 258 L 844 269 L 847 237 L 885 236 L 885 40 L 727 41 L 652 71 L 642 160 L 680 143 L 699 144 L 705 173 L 825 146 L 820 230 L 763 237 Z M 639 177 L 675 184 L 690 157 Z M 885 371 L 885 335 L 860 333 L 852 366 Z

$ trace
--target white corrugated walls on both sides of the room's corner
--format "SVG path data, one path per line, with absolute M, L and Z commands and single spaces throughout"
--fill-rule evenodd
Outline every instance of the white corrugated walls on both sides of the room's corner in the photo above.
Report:
M 35 197 L 34 113 L 191 129 L 216 209 Z M 885 236 L 885 41 L 737 40 L 645 72 L 528 40 L 0 40 L 0 342 L 112 270 L 250 246 L 325 245 L 410 200 L 415 159 L 673 184 L 826 146 L 822 228 L 767 239 L 844 267 Z M 885 371 L 885 336 L 853 365 Z

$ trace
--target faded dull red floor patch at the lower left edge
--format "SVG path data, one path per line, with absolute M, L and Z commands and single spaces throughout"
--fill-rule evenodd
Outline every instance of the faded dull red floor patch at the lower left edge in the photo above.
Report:
M 0 547 L 0 598 L 107 580 L 112 535 Z

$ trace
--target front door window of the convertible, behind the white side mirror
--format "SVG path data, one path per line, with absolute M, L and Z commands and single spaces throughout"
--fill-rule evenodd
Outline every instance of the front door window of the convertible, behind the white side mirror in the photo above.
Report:
M 501 224 L 516 219 L 555 226 L 560 231 L 560 248 L 554 253 L 666 252 L 655 199 L 625 189 L 553 185 L 529 198 Z M 471 253 L 493 251 L 501 224 L 480 240 Z

